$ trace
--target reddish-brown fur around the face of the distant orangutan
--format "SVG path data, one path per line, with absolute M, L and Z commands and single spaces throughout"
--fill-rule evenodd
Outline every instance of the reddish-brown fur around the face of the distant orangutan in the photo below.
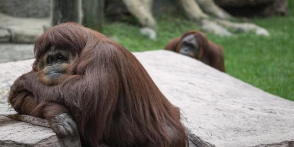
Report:
M 225 72 L 222 48 L 214 42 L 209 41 L 202 32 L 196 30 L 187 31 L 181 37 L 172 39 L 164 49 L 180 52 L 182 47 L 181 40 L 190 34 L 195 35 L 199 46 L 198 56 L 195 58 L 211 67 Z

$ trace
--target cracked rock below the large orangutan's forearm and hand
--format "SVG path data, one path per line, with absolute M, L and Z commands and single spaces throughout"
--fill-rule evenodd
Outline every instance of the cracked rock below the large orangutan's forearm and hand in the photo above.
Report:
M 57 138 L 46 120 L 16 112 L 0 104 L 0 147 L 80 147 L 78 135 Z

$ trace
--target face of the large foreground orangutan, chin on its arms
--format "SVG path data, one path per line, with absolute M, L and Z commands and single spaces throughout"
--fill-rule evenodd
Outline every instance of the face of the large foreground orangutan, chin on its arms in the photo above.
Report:
M 64 49 L 51 47 L 39 62 L 38 76 L 46 85 L 57 85 L 71 75 L 72 54 Z

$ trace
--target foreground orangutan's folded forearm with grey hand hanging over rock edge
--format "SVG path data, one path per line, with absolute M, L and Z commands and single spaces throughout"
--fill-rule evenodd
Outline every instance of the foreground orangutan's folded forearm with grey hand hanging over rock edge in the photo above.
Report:
M 26 74 L 31 74 L 31 72 Z M 12 105 L 14 110 L 19 114 L 47 119 L 50 127 L 59 137 L 73 135 L 77 130 L 77 126 L 72 120 L 68 109 L 54 102 L 39 103 L 34 96 L 22 86 L 22 84 L 25 83 L 24 75 L 19 77 L 10 88 L 8 102 Z

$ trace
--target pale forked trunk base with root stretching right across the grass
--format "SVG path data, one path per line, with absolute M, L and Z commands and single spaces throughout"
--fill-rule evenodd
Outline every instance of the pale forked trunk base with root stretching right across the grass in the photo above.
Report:
M 231 29 L 239 32 L 254 32 L 257 35 L 269 36 L 269 32 L 257 25 L 249 23 L 233 23 L 226 21 L 225 19 L 231 18 L 229 14 L 223 11 L 221 8 L 215 5 L 212 0 L 180 0 L 186 15 L 191 20 L 201 25 L 201 29 L 214 33 L 220 36 L 231 36 L 227 29 Z M 220 19 L 210 19 L 205 13 L 202 12 L 197 3 L 202 6 L 202 9 L 206 12 L 212 13 Z

